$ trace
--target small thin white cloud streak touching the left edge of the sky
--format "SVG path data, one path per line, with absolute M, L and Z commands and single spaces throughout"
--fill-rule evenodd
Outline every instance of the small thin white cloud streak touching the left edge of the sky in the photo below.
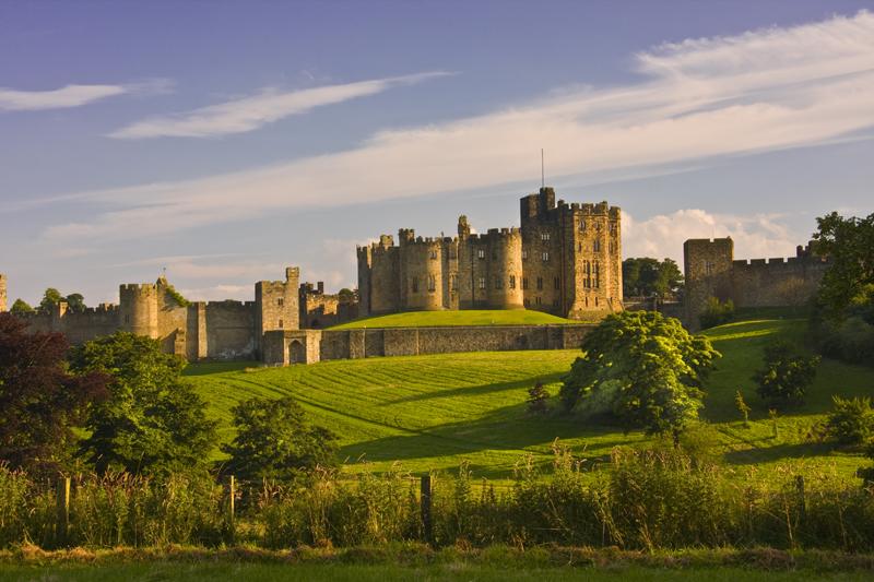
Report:
M 67 85 L 50 91 L 0 87 L 0 111 L 68 109 L 118 95 L 166 93 L 170 87 L 172 83 L 165 79 L 125 85 Z

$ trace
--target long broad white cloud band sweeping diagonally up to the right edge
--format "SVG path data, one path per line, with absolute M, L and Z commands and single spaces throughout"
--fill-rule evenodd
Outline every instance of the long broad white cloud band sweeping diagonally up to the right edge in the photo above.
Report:
M 354 150 L 272 167 L 76 194 L 106 212 L 44 236 L 132 238 L 275 209 L 520 182 L 539 176 L 541 146 L 551 176 L 617 176 L 829 143 L 874 127 L 870 12 L 664 45 L 636 59 L 645 76 L 627 86 L 574 90 L 488 115 L 382 131 Z

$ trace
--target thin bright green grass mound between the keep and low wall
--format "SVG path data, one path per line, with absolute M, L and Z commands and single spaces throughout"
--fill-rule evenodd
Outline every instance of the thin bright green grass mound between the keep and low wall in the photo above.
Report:
M 357 328 L 437 328 L 446 325 L 532 325 L 542 323 L 581 323 L 543 311 L 528 309 L 471 309 L 463 311 L 410 311 L 362 318 L 334 325 L 332 330 Z

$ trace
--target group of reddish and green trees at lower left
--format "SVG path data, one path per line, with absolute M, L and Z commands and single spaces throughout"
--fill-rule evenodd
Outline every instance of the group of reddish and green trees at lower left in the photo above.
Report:
M 216 423 L 157 341 L 119 332 L 70 349 L 0 313 L 0 462 L 39 474 L 92 468 L 165 475 L 209 468 Z M 334 463 L 334 437 L 292 399 L 233 411 L 223 451 L 240 478 L 288 479 Z

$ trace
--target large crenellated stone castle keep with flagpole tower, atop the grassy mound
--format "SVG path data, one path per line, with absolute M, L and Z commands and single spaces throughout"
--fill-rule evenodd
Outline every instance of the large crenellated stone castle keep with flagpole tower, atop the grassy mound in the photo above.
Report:
M 556 204 L 555 190 L 520 201 L 520 228 L 416 237 L 358 247 L 359 314 L 440 309 L 534 309 L 574 319 L 621 311 L 621 212 L 606 202 Z

